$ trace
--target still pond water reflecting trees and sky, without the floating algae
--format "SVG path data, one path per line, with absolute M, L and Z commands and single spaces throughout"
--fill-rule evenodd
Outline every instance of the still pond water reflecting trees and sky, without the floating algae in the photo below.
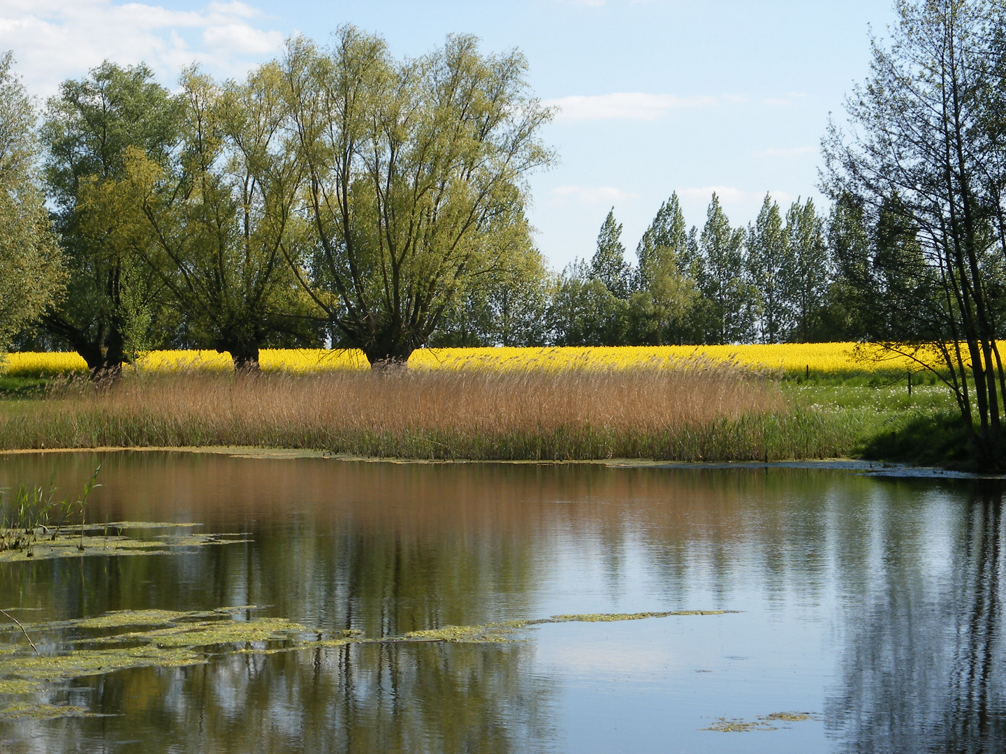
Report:
M 0 751 L 1006 747 L 1003 498 L 988 484 L 118 452 L 0 456 L 0 486 L 54 473 L 75 492 L 98 463 L 92 521 L 197 522 L 245 541 L 3 564 L 0 607 L 41 623 L 257 605 L 369 637 L 736 612 L 88 676 L 47 686 L 44 701 L 102 716 L 0 721 Z M 43 652 L 64 648 L 47 641 Z M 724 721 L 746 725 L 717 730 Z

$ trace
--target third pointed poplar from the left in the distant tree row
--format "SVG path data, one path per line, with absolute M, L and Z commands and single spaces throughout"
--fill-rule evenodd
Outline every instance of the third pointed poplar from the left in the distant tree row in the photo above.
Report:
M 758 292 L 748 279 L 745 240 L 744 229 L 730 227 L 713 193 L 699 236 L 696 272 L 707 343 L 742 343 L 751 338 Z

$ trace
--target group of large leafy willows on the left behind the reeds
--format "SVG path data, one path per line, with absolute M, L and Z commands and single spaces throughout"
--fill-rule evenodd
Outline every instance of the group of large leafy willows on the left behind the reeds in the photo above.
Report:
M 551 113 L 526 71 L 474 37 L 396 59 L 347 26 L 243 81 L 191 67 L 172 91 L 106 62 L 36 125 L 8 54 L 0 348 L 70 348 L 95 374 L 151 348 L 407 359 L 471 291 L 541 267 L 524 204 Z

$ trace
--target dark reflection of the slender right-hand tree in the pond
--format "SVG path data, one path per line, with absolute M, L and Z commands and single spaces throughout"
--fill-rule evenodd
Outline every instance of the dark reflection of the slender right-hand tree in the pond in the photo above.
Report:
M 962 500 L 946 571 L 889 546 L 872 564 L 826 710 L 842 751 L 1002 751 L 1003 492 L 981 485 Z

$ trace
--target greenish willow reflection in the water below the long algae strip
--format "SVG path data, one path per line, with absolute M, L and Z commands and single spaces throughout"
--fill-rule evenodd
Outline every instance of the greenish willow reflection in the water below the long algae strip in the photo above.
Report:
M 548 748 L 547 682 L 529 644 L 384 644 L 231 656 L 95 684 L 99 711 L 45 726 L 47 751 L 74 741 L 118 751 L 533 752 Z M 128 713 L 128 714 L 127 714 Z

